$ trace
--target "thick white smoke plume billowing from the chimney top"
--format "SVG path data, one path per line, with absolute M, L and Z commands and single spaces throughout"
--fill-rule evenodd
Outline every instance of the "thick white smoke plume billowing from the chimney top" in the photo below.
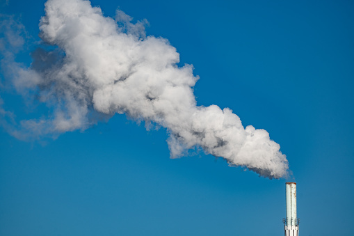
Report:
M 171 157 L 199 146 L 259 175 L 287 176 L 287 159 L 266 130 L 245 129 L 230 109 L 197 106 L 193 66 L 177 66 L 179 54 L 168 40 L 146 37 L 146 21 L 132 24 L 121 10 L 115 19 L 104 17 L 81 0 L 49 0 L 45 13 L 40 37 L 59 49 L 33 52 L 32 67 L 15 76 L 15 85 L 17 91 L 38 90 L 53 114 L 22 127 L 60 134 L 86 129 L 102 114 L 126 113 L 165 127 Z

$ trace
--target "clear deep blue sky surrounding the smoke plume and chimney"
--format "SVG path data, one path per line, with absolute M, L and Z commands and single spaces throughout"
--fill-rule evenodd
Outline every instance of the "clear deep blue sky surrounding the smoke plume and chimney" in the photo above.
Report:
M 353 1 L 91 2 L 147 19 L 148 35 L 194 65 L 198 105 L 266 129 L 293 175 L 259 178 L 203 152 L 169 159 L 166 130 L 124 115 L 33 143 L 0 129 L 0 235 L 283 235 L 285 182 L 298 184 L 300 235 L 352 234 Z M 44 3 L 0 11 L 39 40 Z M 19 120 L 42 116 L 13 91 L 1 97 Z

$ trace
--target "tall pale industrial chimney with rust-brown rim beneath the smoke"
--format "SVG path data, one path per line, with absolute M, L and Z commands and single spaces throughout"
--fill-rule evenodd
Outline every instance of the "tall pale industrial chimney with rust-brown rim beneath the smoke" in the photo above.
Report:
M 298 236 L 299 219 L 296 218 L 296 182 L 285 183 L 287 218 L 283 219 L 285 236 Z

